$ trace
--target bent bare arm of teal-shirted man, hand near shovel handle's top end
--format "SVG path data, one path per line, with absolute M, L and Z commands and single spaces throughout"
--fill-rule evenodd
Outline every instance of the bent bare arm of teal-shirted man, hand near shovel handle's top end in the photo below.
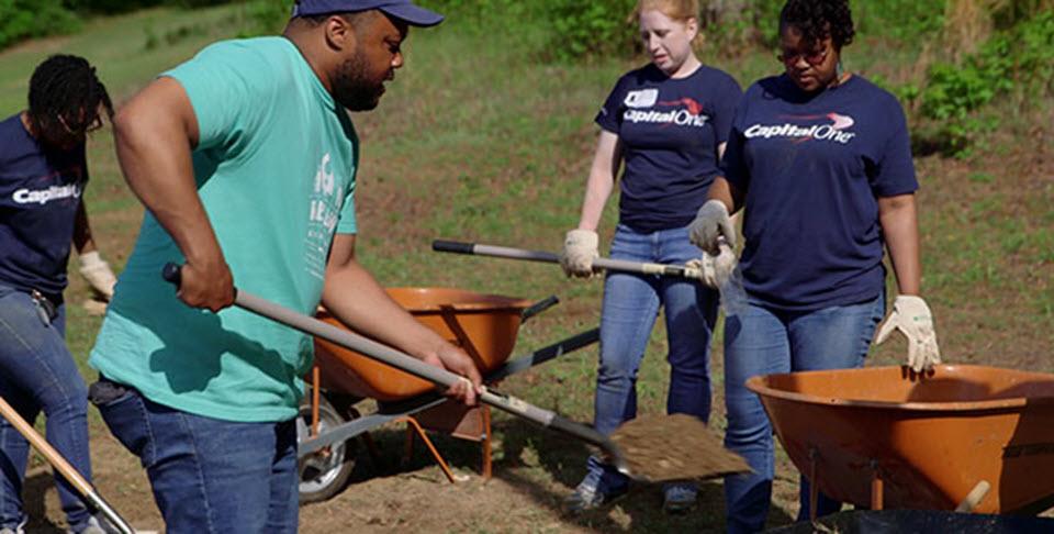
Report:
M 121 109 L 113 125 L 125 180 L 187 258 L 179 298 L 212 311 L 231 305 L 231 269 L 194 183 L 198 119 L 187 92 L 159 78 Z

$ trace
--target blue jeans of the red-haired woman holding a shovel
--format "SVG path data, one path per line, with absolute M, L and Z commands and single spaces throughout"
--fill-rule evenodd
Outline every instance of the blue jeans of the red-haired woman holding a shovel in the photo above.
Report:
M 612 257 L 632 262 L 684 264 L 703 252 L 688 242 L 687 229 L 641 234 L 619 224 Z M 608 272 L 601 311 L 601 365 L 596 376 L 593 425 L 607 435 L 637 416 L 637 371 L 648 340 L 665 309 L 670 352 L 666 412 L 710 416 L 710 334 L 717 321 L 717 292 L 684 278 Z M 595 456 L 585 482 L 602 492 L 621 490 L 628 479 Z

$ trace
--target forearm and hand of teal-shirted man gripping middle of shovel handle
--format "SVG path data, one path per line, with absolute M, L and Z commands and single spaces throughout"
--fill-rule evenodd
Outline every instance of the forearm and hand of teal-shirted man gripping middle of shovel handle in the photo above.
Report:
M 352 234 L 337 234 L 333 241 L 322 303 L 357 332 L 468 378 L 473 388 L 459 383 L 448 394 L 467 404 L 475 403 L 475 392 L 482 379 L 472 359 L 417 322 L 388 296 L 377 279 L 355 259 Z

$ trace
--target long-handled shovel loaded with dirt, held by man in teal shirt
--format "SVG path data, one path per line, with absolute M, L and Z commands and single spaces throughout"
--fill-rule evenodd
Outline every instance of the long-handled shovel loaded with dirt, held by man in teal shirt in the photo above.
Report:
M 179 287 L 179 269 L 178 265 L 168 264 L 165 266 L 161 276 Z M 464 378 L 448 370 L 425 364 L 394 348 L 245 291 L 235 291 L 234 304 L 305 334 L 356 351 L 437 386 L 450 388 L 464 380 Z M 623 429 L 619 429 L 613 437 L 608 437 L 588 426 L 564 419 L 552 411 L 538 408 L 515 397 L 498 393 L 492 389 L 484 389 L 479 398 L 481 402 L 513 415 L 599 447 L 615 468 L 633 478 L 652 481 L 710 478 L 750 470 L 741 457 L 726 450 L 717 437 L 706 431 L 703 423 L 695 418 L 684 415 L 682 415 L 682 418 L 685 418 L 684 420 L 677 420 L 676 416 L 644 418 L 636 421 L 635 423 L 638 424 L 632 427 L 627 424 L 626 426 L 629 429 L 621 436 L 619 432 Z M 673 425 L 670 424 L 671 422 Z M 673 442 L 681 442 L 681 446 L 676 446 L 677 444 Z M 624 450 L 630 452 L 632 457 L 627 458 Z M 632 470 L 630 466 L 632 466 Z M 673 468 L 671 469 L 671 467 Z

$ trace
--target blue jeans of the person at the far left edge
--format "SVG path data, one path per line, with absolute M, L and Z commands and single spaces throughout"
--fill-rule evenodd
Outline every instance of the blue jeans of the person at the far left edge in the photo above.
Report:
M 91 480 L 88 450 L 88 389 L 66 347 L 66 311 L 53 318 L 21 290 L 0 286 L 0 396 L 30 424 L 43 410 L 48 443 Z M 0 527 L 23 519 L 22 485 L 30 445 L 0 418 Z M 74 532 L 85 529 L 89 512 L 80 493 L 55 471 L 58 499 Z

